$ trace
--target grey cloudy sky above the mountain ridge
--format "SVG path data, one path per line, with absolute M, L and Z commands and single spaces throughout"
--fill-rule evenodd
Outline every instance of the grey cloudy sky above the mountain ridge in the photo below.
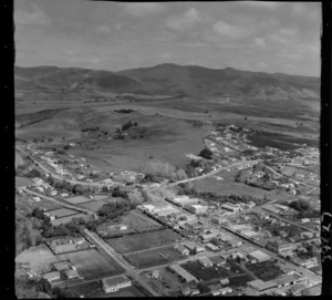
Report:
M 15 0 L 15 64 L 160 63 L 320 76 L 319 2 Z

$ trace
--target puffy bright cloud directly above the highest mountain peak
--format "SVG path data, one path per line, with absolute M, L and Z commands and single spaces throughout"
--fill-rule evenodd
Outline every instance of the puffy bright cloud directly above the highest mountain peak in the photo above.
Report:
M 201 18 L 200 12 L 195 8 L 190 8 L 183 15 L 168 18 L 165 24 L 166 28 L 172 31 L 186 31 L 203 22 L 204 19 Z

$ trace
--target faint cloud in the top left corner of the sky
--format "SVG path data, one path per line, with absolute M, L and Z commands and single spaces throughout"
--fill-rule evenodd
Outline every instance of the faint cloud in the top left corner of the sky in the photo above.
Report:
M 18 10 L 14 12 L 14 21 L 17 24 L 44 25 L 50 23 L 50 18 L 37 4 L 32 3 L 32 12 Z

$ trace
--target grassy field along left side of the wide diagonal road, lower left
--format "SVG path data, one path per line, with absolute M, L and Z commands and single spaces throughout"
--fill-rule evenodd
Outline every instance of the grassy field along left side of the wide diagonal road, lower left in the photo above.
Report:
M 77 271 L 87 280 L 123 273 L 121 266 L 96 249 L 56 256 L 59 260 L 71 260 Z

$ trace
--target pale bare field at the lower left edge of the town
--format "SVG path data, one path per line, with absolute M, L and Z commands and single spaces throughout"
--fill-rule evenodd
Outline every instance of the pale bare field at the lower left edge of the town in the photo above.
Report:
M 15 263 L 28 262 L 31 270 L 37 273 L 50 271 L 52 268 L 50 263 L 58 260 L 58 257 L 44 244 L 27 249 L 15 257 Z

